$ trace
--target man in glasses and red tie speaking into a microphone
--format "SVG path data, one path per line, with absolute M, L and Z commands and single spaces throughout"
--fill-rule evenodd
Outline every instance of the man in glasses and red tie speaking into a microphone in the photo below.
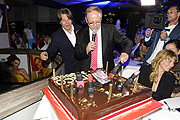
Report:
M 75 46 L 75 57 L 82 60 L 81 70 L 105 69 L 108 61 L 108 71 L 111 71 L 114 68 L 113 50 L 115 43 L 122 46 L 119 62 L 126 62 L 131 54 L 133 41 L 119 32 L 115 25 L 101 24 L 102 11 L 96 6 L 86 9 L 85 19 L 88 26 L 78 31 Z M 95 42 L 92 41 L 94 36 Z M 97 51 L 96 55 L 93 55 L 93 51 Z

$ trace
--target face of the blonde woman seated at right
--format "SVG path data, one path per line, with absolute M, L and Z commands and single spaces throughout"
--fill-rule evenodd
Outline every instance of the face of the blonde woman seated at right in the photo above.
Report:
M 164 59 L 159 64 L 159 72 L 168 72 L 172 67 L 174 67 L 175 57 Z

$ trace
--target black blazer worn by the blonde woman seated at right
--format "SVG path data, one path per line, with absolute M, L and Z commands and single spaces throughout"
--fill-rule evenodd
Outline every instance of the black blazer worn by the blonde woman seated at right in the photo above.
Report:
M 153 83 L 150 82 L 149 76 L 152 72 L 151 65 L 142 65 L 138 82 L 142 85 L 152 88 Z M 155 100 L 170 98 L 175 86 L 175 76 L 171 72 L 164 72 L 156 92 L 153 92 L 152 97 Z

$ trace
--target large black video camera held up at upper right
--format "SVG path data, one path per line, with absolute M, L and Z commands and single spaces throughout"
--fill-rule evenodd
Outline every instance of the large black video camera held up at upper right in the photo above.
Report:
M 163 30 L 165 27 L 166 14 L 146 13 L 145 28 Z

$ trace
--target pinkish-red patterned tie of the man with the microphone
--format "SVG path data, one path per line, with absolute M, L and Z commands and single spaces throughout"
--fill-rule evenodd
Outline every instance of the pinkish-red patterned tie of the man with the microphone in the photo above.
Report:
M 93 70 L 97 69 L 97 53 L 98 53 L 98 37 L 95 37 L 95 49 L 91 52 L 91 68 Z

